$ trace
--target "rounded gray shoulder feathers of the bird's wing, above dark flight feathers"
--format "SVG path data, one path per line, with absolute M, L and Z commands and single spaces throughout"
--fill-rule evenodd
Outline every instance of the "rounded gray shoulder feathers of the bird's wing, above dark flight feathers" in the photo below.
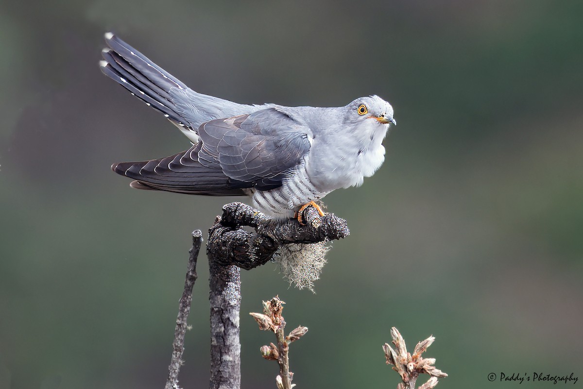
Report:
M 310 150 L 310 128 L 276 108 L 204 123 L 199 162 L 258 190 L 282 185 Z

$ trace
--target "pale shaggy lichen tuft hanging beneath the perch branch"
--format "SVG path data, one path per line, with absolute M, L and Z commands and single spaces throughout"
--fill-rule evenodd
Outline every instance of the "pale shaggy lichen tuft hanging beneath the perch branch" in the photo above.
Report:
M 273 259 L 279 263 L 283 276 L 290 284 L 298 289 L 308 288 L 314 292 L 314 281 L 320 278 L 326 264 L 325 256 L 330 248 L 328 241 L 293 243 L 279 247 Z

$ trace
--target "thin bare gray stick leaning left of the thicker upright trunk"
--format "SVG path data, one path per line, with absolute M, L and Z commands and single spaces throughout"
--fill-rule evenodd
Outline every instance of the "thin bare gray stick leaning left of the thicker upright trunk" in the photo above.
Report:
M 192 287 L 198 277 L 196 275 L 196 260 L 198 253 L 201 250 L 202 232 L 196 229 L 192 232 L 192 247 L 188 251 L 190 257 L 188 259 L 188 270 L 186 273 L 186 280 L 184 281 L 184 292 L 180 298 L 178 307 L 178 317 L 176 319 L 176 327 L 174 329 L 174 342 L 172 344 L 172 359 L 170 366 L 168 366 L 168 380 L 164 389 L 178 388 L 178 372 L 182 365 L 182 353 L 184 352 L 184 334 L 187 329 L 188 313 L 190 312 L 190 305 L 192 302 Z

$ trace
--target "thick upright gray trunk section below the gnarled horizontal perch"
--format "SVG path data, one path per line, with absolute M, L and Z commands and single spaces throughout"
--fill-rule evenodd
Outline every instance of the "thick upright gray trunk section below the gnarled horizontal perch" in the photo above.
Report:
M 208 246 L 207 246 L 208 247 Z M 239 312 L 241 277 L 237 266 L 222 266 L 211 253 L 210 272 L 210 389 L 239 389 L 241 344 Z

